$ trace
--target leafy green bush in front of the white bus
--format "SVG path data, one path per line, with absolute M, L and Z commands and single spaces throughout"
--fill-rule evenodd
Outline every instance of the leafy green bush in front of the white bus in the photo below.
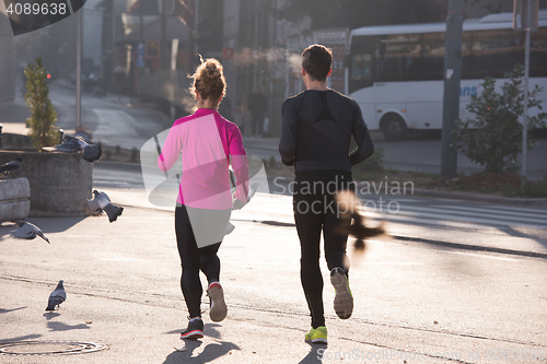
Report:
M 524 111 L 523 66 L 516 64 L 513 72 L 505 74 L 510 78 L 496 92 L 496 80 L 487 77 L 481 84 L 480 95 L 472 95 L 467 110 L 476 115 L 475 119 L 456 121 L 454 137 L 457 148 L 473 162 L 485 167 L 488 173 L 517 172 L 520 168 L 519 153 L 522 151 L 522 124 L 520 119 Z M 528 92 L 528 110 L 542 110 L 542 101 L 535 96 L 542 89 L 535 85 Z M 535 140 L 529 134 L 534 128 L 544 127 L 546 113 L 536 116 L 528 114 L 528 144 L 529 150 Z

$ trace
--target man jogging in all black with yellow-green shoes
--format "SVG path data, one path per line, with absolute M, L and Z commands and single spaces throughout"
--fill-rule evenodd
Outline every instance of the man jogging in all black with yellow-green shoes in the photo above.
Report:
M 346 255 L 348 235 L 337 232 L 349 221 L 341 219 L 334 201 L 338 190 L 352 189 L 351 166 L 374 152 L 359 105 L 327 86 L 331 61 L 330 50 L 322 45 L 312 45 L 302 52 L 306 91 L 284 101 L 279 142 L 282 162 L 294 165 L 293 210 L 301 245 L 300 277 L 312 316 L 312 329 L 305 340 L 314 343 L 327 343 L 319 269 L 322 232 L 330 282 L 336 291 L 335 312 L 347 319 L 353 310 Z M 351 136 L 358 148 L 349 153 Z

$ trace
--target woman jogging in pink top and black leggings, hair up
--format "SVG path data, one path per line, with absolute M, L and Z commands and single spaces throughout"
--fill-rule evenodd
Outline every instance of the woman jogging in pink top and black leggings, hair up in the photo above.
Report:
M 183 162 L 175 233 L 183 267 L 181 289 L 189 322 L 181 339 L 203 337 L 200 270 L 209 284 L 210 319 L 222 321 L 226 316 L 217 251 L 232 206 L 241 209 L 247 201 L 248 191 L 248 164 L 240 129 L 218 113 L 226 87 L 222 64 L 216 59 L 206 59 L 191 79 L 198 109 L 173 124 L 158 157 L 158 166 L 163 172 L 171 169 L 179 155 Z M 230 164 L 237 178 L 233 204 Z

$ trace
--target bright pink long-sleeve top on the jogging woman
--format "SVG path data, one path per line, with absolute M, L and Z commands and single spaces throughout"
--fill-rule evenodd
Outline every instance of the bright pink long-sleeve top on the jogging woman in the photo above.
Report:
M 179 155 L 183 171 L 178 203 L 199 209 L 230 209 L 230 163 L 237 180 L 235 198 L 247 201 L 248 161 L 240 129 L 217 110 L 200 108 L 173 124 L 158 166 L 167 172 Z

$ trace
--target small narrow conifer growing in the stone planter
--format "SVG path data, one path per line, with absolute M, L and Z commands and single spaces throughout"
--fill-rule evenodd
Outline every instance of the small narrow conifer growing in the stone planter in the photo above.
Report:
M 40 58 L 36 58 L 36 63 L 28 63 L 25 67 L 25 101 L 31 109 L 31 117 L 26 119 L 26 122 L 31 128 L 30 136 L 34 148 L 42 149 L 46 145 L 53 145 L 59 132 L 55 127 L 57 111 L 48 96 L 47 72 Z

